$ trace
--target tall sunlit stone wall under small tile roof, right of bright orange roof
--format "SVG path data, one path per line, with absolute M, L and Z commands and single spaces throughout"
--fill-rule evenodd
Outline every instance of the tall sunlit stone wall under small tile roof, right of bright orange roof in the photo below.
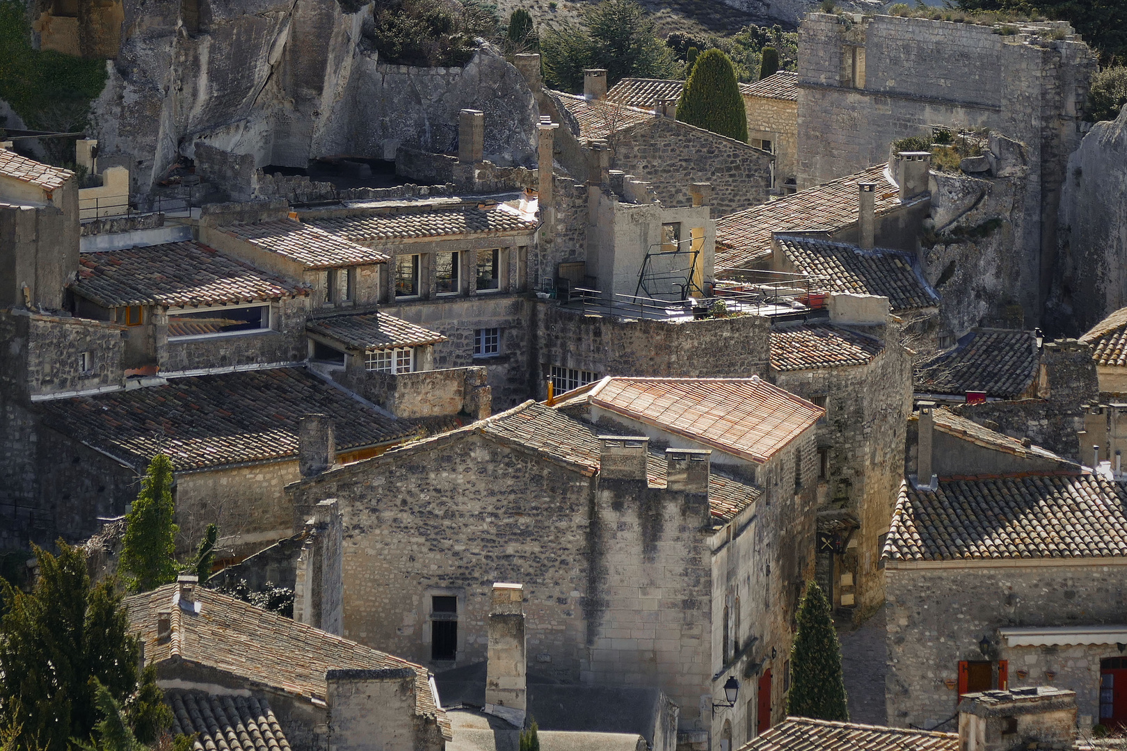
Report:
M 818 481 L 818 510 L 849 510 L 860 521 L 850 547 L 835 562 L 833 583 L 833 605 L 841 605 L 843 593 L 853 594 L 859 622 L 885 599 L 878 563 L 904 476 L 912 358 L 895 327 L 857 330 L 885 337 L 884 349 L 869 365 L 772 370 L 772 381 L 804 399 L 826 397 L 826 417 L 816 432 L 818 447 L 828 452 L 829 476 Z M 842 585 L 842 573 L 852 574 L 852 587 Z

